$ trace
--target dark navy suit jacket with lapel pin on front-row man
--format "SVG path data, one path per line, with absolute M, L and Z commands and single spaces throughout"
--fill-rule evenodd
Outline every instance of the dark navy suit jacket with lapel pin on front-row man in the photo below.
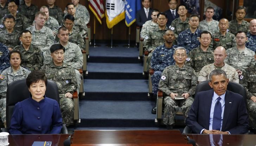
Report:
M 186 119 L 186 125 L 194 133 L 200 134 L 202 129 L 209 130 L 212 96 L 213 89 L 196 94 Z M 248 113 L 243 97 L 227 90 L 222 131 L 229 131 L 230 134 L 244 134 L 248 132 L 248 127 Z

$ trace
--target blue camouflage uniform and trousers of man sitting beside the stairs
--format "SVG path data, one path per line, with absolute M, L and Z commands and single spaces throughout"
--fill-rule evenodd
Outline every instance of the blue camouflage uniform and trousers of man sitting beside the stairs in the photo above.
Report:
M 174 65 L 175 61 L 173 59 L 174 49 L 177 45 L 172 45 L 171 48 L 166 48 L 165 44 L 159 46 L 152 53 L 151 67 L 154 69 L 154 74 L 151 77 L 152 80 L 152 90 L 154 94 L 158 92 L 158 83 L 161 78 L 162 71 L 165 67 Z

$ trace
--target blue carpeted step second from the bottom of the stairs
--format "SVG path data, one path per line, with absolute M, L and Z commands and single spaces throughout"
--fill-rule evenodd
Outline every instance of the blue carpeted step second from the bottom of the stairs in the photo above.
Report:
M 84 79 L 81 100 L 149 100 L 148 80 Z

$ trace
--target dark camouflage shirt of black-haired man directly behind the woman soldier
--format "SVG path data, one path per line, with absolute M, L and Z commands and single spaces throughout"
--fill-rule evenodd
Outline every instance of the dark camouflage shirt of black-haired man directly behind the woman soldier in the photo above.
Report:
M 21 52 L 22 61 L 20 65 L 28 68 L 30 71 L 40 69 L 43 66 L 43 52 L 36 46 L 30 45 L 26 51 L 23 45 L 18 45 L 13 50 Z

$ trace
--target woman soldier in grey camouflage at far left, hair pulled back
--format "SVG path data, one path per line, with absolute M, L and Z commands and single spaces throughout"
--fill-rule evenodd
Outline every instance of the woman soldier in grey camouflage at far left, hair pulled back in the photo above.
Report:
M 9 54 L 11 67 L 6 68 L 0 75 L 0 116 L 6 127 L 6 91 L 11 82 L 26 79 L 30 71 L 20 66 L 21 53 L 13 50 Z

